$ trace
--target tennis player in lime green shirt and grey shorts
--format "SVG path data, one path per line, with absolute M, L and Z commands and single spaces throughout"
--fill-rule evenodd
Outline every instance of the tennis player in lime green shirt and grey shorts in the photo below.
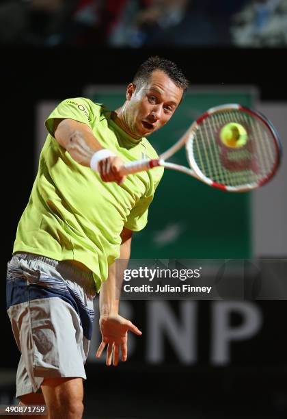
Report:
M 130 257 L 163 169 L 123 177 L 120 168 L 157 157 L 146 137 L 169 121 L 187 84 L 176 64 L 151 57 L 118 110 L 67 99 L 46 120 L 49 135 L 8 264 L 7 303 L 21 353 L 16 397 L 22 405 L 46 404 L 49 418 L 83 415 L 97 292 L 97 357 L 107 346 L 106 364 L 116 366 L 126 361 L 128 331 L 141 335 L 118 312 L 115 259 Z

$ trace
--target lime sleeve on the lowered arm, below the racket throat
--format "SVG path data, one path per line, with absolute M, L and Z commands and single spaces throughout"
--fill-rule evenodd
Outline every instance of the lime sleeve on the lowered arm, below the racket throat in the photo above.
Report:
M 150 188 L 150 194 L 139 199 L 137 205 L 133 207 L 130 214 L 128 215 L 128 219 L 124 225 L 124 227 L 132 231 L 140 231 L 146 227 L 148 223 L 148 207 L 154 199 L 154 192 L 157 186 L 159 186 L 159 182 L 163 176 L 163 168 L 155 168 L 153 170 L 154 177 L 152 177 L 152 187 Z

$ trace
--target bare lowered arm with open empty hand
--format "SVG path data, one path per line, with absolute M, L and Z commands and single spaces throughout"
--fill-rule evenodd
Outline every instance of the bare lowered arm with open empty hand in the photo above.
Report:
M 112 359 L 113 365 L 118 365 L 120 357 L 120 349 L 122 351 L 122 361 L 127 358 L 127 339 L 128 331 L 132 331 L 136 335 L 141 335 L 141 331 L 137 329 L 130 320 L 120 316 L 118 313 L 120 305 L 120 290 L 122 288 L 122 279 L 124 269 L 128 265 L 128 259 L 131 255 L 131 239 L 133 231 L 124 228 L 121 233 L 122 244 L 120 245 L 120 259 L 124 259 L 126 263 L 121 264 L 122 272 L 117 272 L 117 278 L 121 283 L 116 283 L 115 263 L 109 266 L 109 275 L 107 281 L 102 283 L 100 288 L 100 331 L 102 333 L 102 342 L 98 347 L 96 357 L 102 355 L 102 351 L 107 346 L 106 365 L 110 366 Z M 116 290 L 118 288 L 117 295 Z

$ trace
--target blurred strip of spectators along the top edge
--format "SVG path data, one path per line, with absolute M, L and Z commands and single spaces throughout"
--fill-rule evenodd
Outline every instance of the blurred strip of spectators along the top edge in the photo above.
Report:
M 0 43 L 286 47 L 287 0 L 0 0 Z

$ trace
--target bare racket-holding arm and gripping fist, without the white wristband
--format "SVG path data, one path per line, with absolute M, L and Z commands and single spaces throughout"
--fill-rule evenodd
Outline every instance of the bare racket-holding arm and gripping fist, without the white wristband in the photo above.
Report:
M 64 147 L 72 158 L 83 166 L 90 167 L 93 155 L 103 149 L 92 129 L 77 120 L 56 118 L 53 131 L 61 147 Z M 121 167 L 122 160 L 118 156 L 113 155 L 100 160 L 98 172 L 102 181 L 122 183 L 125 177 L 119 174 Z

